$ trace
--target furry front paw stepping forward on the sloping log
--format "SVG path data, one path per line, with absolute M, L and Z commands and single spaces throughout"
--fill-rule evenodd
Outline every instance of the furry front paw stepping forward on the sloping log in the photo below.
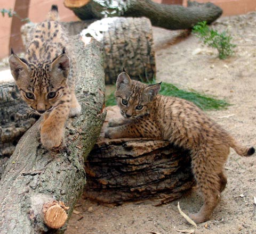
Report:
M 44 129 L 44 126 L 41 128 L 41 143 L 46 149 L 60 146 L 62 136 L 62 130 L 54 128 Z

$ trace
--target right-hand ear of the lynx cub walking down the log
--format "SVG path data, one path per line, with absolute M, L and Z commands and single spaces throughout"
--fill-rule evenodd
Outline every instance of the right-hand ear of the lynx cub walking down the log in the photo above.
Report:
M 63 76 L 68 77 L 70 67 L 70 59 L 68 55 L 63 51 L 61 55 L 56 57 L 51 64 L 51 72 L 53 77 Z

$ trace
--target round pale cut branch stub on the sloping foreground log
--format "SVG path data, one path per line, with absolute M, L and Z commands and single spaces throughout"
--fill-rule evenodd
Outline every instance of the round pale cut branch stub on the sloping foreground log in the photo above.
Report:
M 43 206 L 44 222 L 47 227 L 52 229 L 58 229 L 63 227 L 66 223 L 68 215 L 66 210 L 69 207 L 65 206 L 63 202 L 54 200 L 50 203 L 45 203 Z

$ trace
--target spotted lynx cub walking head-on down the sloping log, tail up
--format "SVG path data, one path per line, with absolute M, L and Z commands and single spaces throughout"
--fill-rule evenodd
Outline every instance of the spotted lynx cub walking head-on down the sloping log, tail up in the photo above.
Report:
M 68 38 L 58 22 L 58 7 L 52 5 L 47 20 L 39 23 L 25 58 L 11 51 L 12 76 L 30 110 L 44 119 L 41 143 L 58 147 L 68 116 L 81 112 L 75 96 L 76 64 Z

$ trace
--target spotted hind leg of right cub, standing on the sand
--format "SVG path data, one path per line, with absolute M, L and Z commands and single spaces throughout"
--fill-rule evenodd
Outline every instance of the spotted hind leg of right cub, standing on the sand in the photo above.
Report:
M 204 204 L 196 214 L 190 214 L 190 218 L 196 223 L 203 223 L 210 219 L 210 216 L 220 200 L 220 193 L 226 186 L 227 178 L 222 173 L 223 164 L 219 158 L 218 165 L 214 165 L 213 155 L 197 153 L 192 158 L 192 168 L 199 189 L 203 195 Z M 220 172 L 218 172 L 218 167 Z

